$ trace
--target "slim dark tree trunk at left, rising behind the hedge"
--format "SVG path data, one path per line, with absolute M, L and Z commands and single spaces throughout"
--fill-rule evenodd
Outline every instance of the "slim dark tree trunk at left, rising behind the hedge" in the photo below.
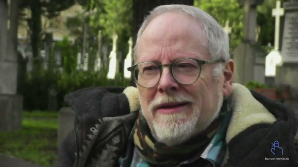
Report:
M 41 70 L 41 3 L 34 0 L 31 3 L 31 47 L 33 57 L 33 73 L 37 74 Z

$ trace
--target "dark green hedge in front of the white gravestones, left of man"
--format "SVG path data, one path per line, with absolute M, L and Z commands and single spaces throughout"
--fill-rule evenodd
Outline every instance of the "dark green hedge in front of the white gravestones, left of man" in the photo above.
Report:
M 22 88 L 25 110 L 47 110 L 49 90 L 54 89 L 57 92 L 58 108 L 66 106 L 64 96 L 70 92 L 87 87 L 127 87 L 130 80 L 116 74 L 115 79 L 107 79 L 107 72 L 100 70 L 91 71 L 74 71 L 72 73 L 50 74 L 43 72 L 40 76 L 33 77 L 27 74 L 26 81 Z

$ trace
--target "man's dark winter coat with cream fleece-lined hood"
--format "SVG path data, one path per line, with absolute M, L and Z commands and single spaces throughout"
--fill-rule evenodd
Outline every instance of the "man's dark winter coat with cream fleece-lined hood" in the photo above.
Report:
M 57 166 L 119 166 L 119 156 L 127 149 L 138 115 L 138 96 L 134 87 L 121 94 L 89 88 L 67 95 L 65 101 L 76 113 L 75 128 L 63 142 Z M 228 103 L 232 117 L 222 166 L 298 166 L 293 110 L 237 83 Z M 276 141 L 279 147 L 274 149 Z

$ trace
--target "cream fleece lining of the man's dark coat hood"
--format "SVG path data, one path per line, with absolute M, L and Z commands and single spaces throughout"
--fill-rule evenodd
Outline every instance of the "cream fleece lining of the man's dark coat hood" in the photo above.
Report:
M 140 108 L 139 91 L 133 86 L 124 89 L 123 93 L 128 98 L 130 111 L 138 111 Z M 238 135 L 246 128 L 260 123 L 273 123 L 275 117 L 257 101 L 245 86 L 233 83 L 232 94 L 228 98 L 233 111 L 226 132 L 226 142 Z

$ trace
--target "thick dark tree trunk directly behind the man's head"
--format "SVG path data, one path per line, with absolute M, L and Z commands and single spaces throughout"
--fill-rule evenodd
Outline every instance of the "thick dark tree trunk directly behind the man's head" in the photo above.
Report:
M 193 5 L 193 1 L 194 0 L 133 0 L 133 46 L 136 43 L 136 34 L 144 21 L 144 17 L 148 15 L 154 7 L 165 4 Z M 132 64 L 134 64 L 134 62 L 132 62 Z M 131 75 L 131 85 L 135 86 L 133 75 Z

